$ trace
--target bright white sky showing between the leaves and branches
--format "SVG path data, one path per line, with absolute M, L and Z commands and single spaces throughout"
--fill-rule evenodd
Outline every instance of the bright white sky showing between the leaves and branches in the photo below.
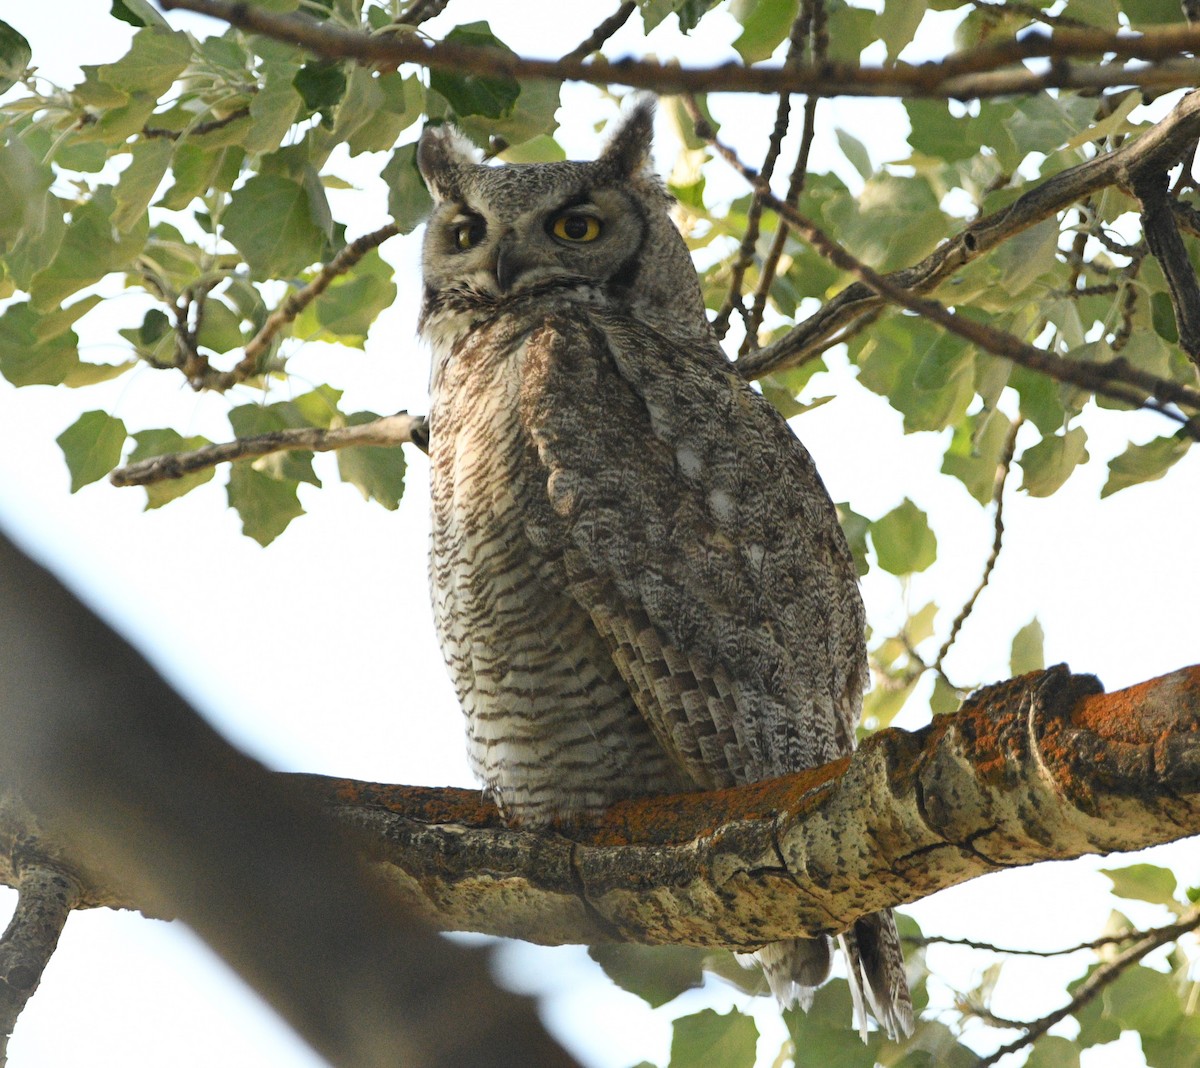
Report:
M 520 25 L 493 24 L 518 49 L 560 54 L 612 6 L 592 0 L 571 5 L 568 20 L 560 2 L 527 0 L 517 8 Z M 70 85 L 78 64 L 116 59 L 127 47 L 108 7 L 104 0 L 59 0 L 20 5 L 2 17 L 30 40 L 42 72 Z M 455 22 L 494 13 L 496 6 L 482 0 L 451 5 Z M 731 23 L 714 20 L 680 58 L 725 58 L 734 35 Z M 664 54 L 671 40 L 673 34 L 659 43 Z M 614 54 L 642 48 L 635 19 Z M 570 155 L 588 157 L 598 144 L 594 124 L 612 114 L 611 104 L 577 86 L 564 90 L 563 100 L 563 144 Z M 736 118 L 725 136 L 744 146 L 746 158 L 761 154 L 767 109 L 716 100 L 714 112 L 718 119 Z M 818 115 L 818 170 L 833 167 L 850 178 L 834 149 L 835 125 L 869 145 L 876 163 L 906 154 L 907 124 L 894 106 L 828 102 Z M 668 128 L 660 130 L 660 138 L 670 138 Z M 667 144 L 664 162 L 672 156 Z M 359 180 L 361 172 L 352 170 L 343 173 Z M 738 190 L 720 172 L 712 180 Z M 352 235 L 385 217 L 378 182 L 364 179 L 360 191 L 335 196 L 335 210 L 349 218 Z M 428 355 L 414 337 L 416 241 L 394 240 L 384 254 L 396 265 L 400 298 L 366 353 L 312 346 L 292 364 L 298 391 L 311 376 L 346 389 L 347 410 L 425 410 Z M 106 308 L 85 320 L 90 359 L 119 356 L 112 328 L 127 325 L 122 307 L 130 299 L 114 293 Z M 850 500 L 874 517 L 907 496 L 930 512 L 940 558 L 913 582 L 908 598 L 914 607 L 930 599 L 947 606 L 940 617 L 944 634 L 948 618 L 978 581 L 991 541 L 990 517 L 961 486 L 936 475 L 944 448 L 938 436 L 902 437 L 899 416 L 844 370 L 821 378 L 811 392 L 838 398 L 802 416 L 797 431 L 834 499 Z M 245 391 L 228 401 L 198 398 L 172 376 L 146 370 L 90 396 L 41 386 L 18 391 L 0 383 L 0 523 L 116 623 L 222 731 L 269 764 L 368 780 L 470 785 L 460 713 L 427 607 L 422 457 L 410 454 L 408 493 L 395 514 L 365 504 L 358 491 L 337 481 L 332 457 L 318 457 L 325 490 L 301 488 L 311 514 L 268 550 L 240 535 L 236 516 L 224 506 L 220 474 L 216 484 L 154 512 L 142 511 L 138 490 L 97 484 L 68 496 L 54 439 L 78 416 L 80 403 L 114 412 L 131 431 L 170 425 L 222 440 L 228 437 L 222 406 L 251 398 Z M 1007 677 L 1009 640 L 1034 614 L 1045 628 L 1048 662 L 1067 660 L 1078 671 L 1096 672 L 1110 689 L 1200 659 L 1194 622 L 1200 604 L 1194 566 L 1200 455 L 1193 450 L 1162 482 L 1098 503 L 1108 458 L 1129 438 L 1146 440 L 1169 427 L 1153 416 L 1112 413 L 1091 413 L 1086 426 L 1092 461 L 1062 491 L 1049 500 L 1018 493 L 1008 498 L 1007 547 L 948 664 L 965 683 Z M 877 630 L 902 619 L 894 581 L 872 577 L 866 598 Z M 910 704 L 902 724 L 919 725 L 920 702 Z M 1164 858 L 1186 884 L 1200 883 L 1190 845 L 1151 851 L 1147 859 Z M 1106 881 L 1094 874 L 1111 864 L 1043 865 L 991 876 L 907 911 L 926 931 L 1001 944 L 1072 944 L 1094 937 L 1114 906 Z M 14 895 L 4 894 L 8 905 Z M 1150 908 L 1127 912 L 1146 923 L 1163 918 Z M 498 966 L 508 982 L 545 997 L 547 1020 L 587 1064 L 665 1063 L 670 1019 L 707 1004 L 755 1010 L 764 1032 L 764 1063 L 778 1054 L 782 1031 L 766 1001 L 754 1004 L 709 983 L 703 994 L 688 995 L 683 1009 L 676 1004 L 656 1013 L 617 990 L 583 956 L 575 947 L 512 946 L 500 953 Z M 978 979 L 972 971 L 978 959 L 966 953 L 940 952 L 935 966 L 959 986 Z M 1074 976 L 1082 966 L 1078 959 L 1012 962 L 994 1008 L 1009 1016 L 1039 1015 L 1052 1007 L 1046 977 Z M 946 990 L 938 996 L 943 1007 L 949 1004 Z M 186 930 L 96 912 L 72 917 L 10 1045 L 12 1068 L 76 1063 L 306 1068 L 319 1062 Z M 1140 1060 L 1128 1039 L 1084 1057 L 1086 1068 L 1130 1063 Z

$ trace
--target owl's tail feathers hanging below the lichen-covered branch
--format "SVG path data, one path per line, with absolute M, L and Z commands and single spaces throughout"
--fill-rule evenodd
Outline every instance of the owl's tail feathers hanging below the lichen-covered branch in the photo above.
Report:
M 854 1022 L 866 1042 L 868 1010 L 880 1021 L 888 1038 L 912 1034 L 912 1001 L 904 970 L 904 953 L 890 912 L 876 912 L 859 919 L 838 936 L 846 954 Z M 833 961 L 829 938 L 792 938 L 763 946 L 756 953 L 737 954 L 743 967 L 762 967 L 770 992 L 784 1008 L 808 1012 L 816 988 L 828 977 Z

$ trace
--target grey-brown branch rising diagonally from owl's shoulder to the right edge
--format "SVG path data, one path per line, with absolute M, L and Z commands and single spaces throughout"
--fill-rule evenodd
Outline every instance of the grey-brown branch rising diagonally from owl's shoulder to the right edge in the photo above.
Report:
M 1193 92 L 1140 137 L 1046 179 L 1001 211 L 965 227 L 920 263 L 882 277 L 912 294 L 931 293 L 966 264 L 1088 194 L 1114 185 L 1132 187 L 1133 175 L 1142 170 L 1166 170 L 1198 139 L 1200 92 Z M 746 378 L 761 378 L 799 362 L 810 349 L 883 304 L 886 298 L 865 282 L 851 283 L 778 341 L 739 360 L 739 370 Z

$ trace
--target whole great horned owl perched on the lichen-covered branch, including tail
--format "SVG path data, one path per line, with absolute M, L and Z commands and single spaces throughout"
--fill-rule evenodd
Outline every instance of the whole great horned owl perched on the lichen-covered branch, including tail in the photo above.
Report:
M 782 775 L 853 749 L 863 604 L 824 486 L 704 314 L 653 107 L 599 160 L 482 166 L 421 138 L 434 199 L 430 563 L 472 766 L 505 816 Z M 912 1028 L 889 912 L 841 936 L 892 1034 Z M 829 938 L 758 950 L 806 1004 Z

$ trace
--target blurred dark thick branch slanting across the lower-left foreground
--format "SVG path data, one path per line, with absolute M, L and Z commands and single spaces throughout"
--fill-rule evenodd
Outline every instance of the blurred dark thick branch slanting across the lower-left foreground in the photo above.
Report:
M 0 538 L 0 852 L 178 916 L 331 1063 L 568 1066 L 529 1001 Z M 31 815 L 32 814 L 32 815 Z M 14 870 L 19 869 L 19 870 Z

